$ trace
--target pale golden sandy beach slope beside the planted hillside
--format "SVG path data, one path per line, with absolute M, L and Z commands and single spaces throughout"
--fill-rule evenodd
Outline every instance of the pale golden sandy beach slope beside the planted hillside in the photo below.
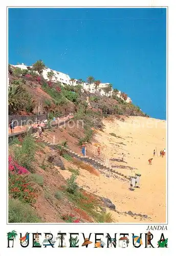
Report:
M 97 177 L 83 169 L 80 170 L 77 183 L 89 192 L 110 199 L 117 211 L 121 212 L 118 214 L 111 211 L 117 222 L 165 223 L 167 169 L 166 156 L 160 157 L 160 150 L 166 147 L 166 122 L 145 117 L 125 117 L 125 121 L 104 119 L 104 125 L 104 132 L 98 132 L 95 137 L 101 147 L 101 157 L 108 158 L 109 165 L 123 165 L 120 172 L 124 175 L 140 173 L 140 188 L 131 191 L 128 180 L 120 181 L 101 174 Z M 115 133 L 119 137 L 109 133 Z M 95 151 L 97 145 L 93 143 L 90 147 Z M 153 150 L 156 150 L 155 157 Z M 111 160 L 121 159 L 122 153 L 124 162 Z M 152 157 L 152 164 L 149 165 L 148 159 Z M 129 167 L 136 169 L 131 171 Z M 68 170 L 60 170 L 60 173 L 65 179 L 71 175 Z M 150 218 L 140 220 L 122 214 L 129 210 Z

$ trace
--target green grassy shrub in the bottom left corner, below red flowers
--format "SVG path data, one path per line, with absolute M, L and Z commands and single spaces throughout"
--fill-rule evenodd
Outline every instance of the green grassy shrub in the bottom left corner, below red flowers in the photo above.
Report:
M 9 198 L 10 223 L 38 223 L 42 222 L 30 205 L 18 199 Z

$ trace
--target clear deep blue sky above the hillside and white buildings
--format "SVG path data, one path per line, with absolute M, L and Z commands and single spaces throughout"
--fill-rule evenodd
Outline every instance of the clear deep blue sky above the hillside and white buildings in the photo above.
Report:
M 166 9 L 9 9 L 9 63 L 94 76 L 166 119 Z

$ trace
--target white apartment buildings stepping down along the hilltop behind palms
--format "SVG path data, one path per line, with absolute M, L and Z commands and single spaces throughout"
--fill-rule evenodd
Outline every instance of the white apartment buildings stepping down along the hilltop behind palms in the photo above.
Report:
M 32 68 L 32 66 L 26 66 L 24 65 L 24 63 L 21 63 L 20 65 L 12 65 L 12 67 L 15 67 L 15 68 L 20 68 L 20 69 L 30 69 Z M 71 81 L 71 78 L 68 74 L 64 74 L 62 72 L 58 72 L 58 71 L 55 71 L 55 70 L 52 70 L 52 69 L 49 69 L 49 68 L 46 68 L 45 70 L 43 70 L 42 72 L 42 75 L 43 77 L 49 81 L 50 79 L 48 78 L 47 76 L 47 73 L 48 72 L 53 72 L 54 73 L 54 76 L 52 77 L 52 81 L 53 82 L 61 82 L 61 84 L 64 86 L 64 84 L 68 84 L 68 85 L 72 85 L 73 86 L 76 86 L 76 84 L 78 84 L 78 80 L 75 79 L 74 81 Z M 95 93 L 95 92 L 99 92 L 101 94 L 101 96 L 112 96 L 113 94 L 113 89 L 111 90 L 111 92 L 108 93 L 108 95 L 104 92 L 103 88 L 107 87 L 109 83 L 100 83 L 99 86 L 97 87 L 97 89 L 95 89 L 95 84 L 92 83 L 92 84 L 89 84 L 89 83 L 82 83 L 82 87 L 84 90 L 86 91 L 89 91 L 90 93 Z M 117 96 L 121 99 L 122 96 L 120 95 L 121 94 L 121 91 L 119 91 L 119 93 L 117 94 Z M 126 102 L 130 102 L 131 99 L 128 97 L 126 99 Z

